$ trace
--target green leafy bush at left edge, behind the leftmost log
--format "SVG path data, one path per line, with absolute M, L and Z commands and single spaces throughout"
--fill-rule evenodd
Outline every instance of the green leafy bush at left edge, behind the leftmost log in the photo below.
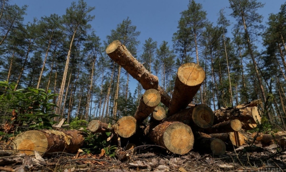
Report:
M 57 96 L 50 90 L 26 89 L 14 90 L 16 84 L 0 81 L 0 112 L 6 117 L 6 123 L 25 126 L 28 129 L 52 129 L 53 117 L 57 107 L 51 100 Z

